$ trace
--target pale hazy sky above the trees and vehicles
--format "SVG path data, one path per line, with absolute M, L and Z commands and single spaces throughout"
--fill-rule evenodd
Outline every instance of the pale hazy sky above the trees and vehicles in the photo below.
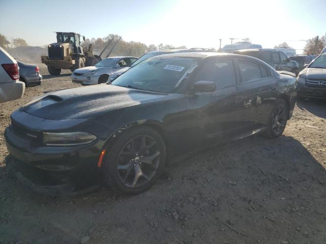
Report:
M 0 0 L 0 33 L 29 45 L 55 42 L 53 32 L 63 31 L 86 38 L 117 34 L 147 45 L 215 48 L 219 39 L 223 47 L 229 38 L 248 37 L 266 48 L 285 41 L 303 49 L 305 42 L 298 40 L 326 33 L 325 10 L 326 0 Z

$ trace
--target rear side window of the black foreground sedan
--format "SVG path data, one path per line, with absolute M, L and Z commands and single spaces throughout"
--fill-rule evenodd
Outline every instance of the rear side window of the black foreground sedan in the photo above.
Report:
M 253 81 L 270 76 L 268 70 L 256 63 L 238 60 L 242 82 Z

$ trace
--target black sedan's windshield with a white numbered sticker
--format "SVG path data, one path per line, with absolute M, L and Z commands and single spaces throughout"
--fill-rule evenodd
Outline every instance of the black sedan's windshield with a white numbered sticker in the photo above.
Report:
M 197 65 L 192 58 L 150 58 L 116 78 L 112 84 L 159 93 L 174 93 L 180 82 Z

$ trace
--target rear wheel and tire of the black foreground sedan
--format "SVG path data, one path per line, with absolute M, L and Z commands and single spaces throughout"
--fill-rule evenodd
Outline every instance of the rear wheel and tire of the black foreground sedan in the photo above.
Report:
M 284 132 L 287 118 L 288 107 L 283 99 L 278 98 L 268 117 L 266 131 L 263 135 L 268 138 L 278 138 Z

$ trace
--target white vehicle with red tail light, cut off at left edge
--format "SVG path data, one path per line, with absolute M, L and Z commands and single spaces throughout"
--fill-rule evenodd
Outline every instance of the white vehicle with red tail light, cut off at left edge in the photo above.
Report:
M 25 84 L 19 81 L 17 61 L 0 47 L 0 103 L 21 98 Z

